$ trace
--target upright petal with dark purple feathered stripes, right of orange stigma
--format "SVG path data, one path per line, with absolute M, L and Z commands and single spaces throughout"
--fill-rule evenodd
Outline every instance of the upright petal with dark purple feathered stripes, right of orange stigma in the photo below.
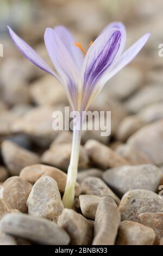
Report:
M 126 33 L 111 28 L 99 36 L 87 51 L 82 70 L 83 101 L 87 102 L 98 81 L 120 57 Z M 82 105 L 85 107 L 85 103 Z

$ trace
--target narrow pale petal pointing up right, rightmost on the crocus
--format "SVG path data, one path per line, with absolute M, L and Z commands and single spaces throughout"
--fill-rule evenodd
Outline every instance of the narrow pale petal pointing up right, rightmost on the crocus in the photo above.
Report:
M 135 44 L 130 46 L 128 50 L 121 55 L 117 62 L 114 63 L 114 65 L 112 65 L 112 70 L 110 72 L 106 72 L 100 83 L 104 85 L 112 76 L 114 76 L 124 66 L 129 64 L 140 52 L 142 47 L 146 44 L 147 40 L 149 39 L 149 36 L 150 33 L 143 35 L 139 40 L 135 42 Z

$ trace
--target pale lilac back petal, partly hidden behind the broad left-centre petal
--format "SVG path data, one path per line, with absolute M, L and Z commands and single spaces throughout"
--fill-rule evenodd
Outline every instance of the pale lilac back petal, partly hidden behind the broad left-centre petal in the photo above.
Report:
M 56 26 L 54 27 L 55 33 L 59 36 L 62 43 L 67 48 L 68 52 L 70 52 L 71 57 L 76 63 L 79 71 L 82 70 L 84 56 L 78 47 L 74 45 L 74 39 L 68 29 L 64 26 Z

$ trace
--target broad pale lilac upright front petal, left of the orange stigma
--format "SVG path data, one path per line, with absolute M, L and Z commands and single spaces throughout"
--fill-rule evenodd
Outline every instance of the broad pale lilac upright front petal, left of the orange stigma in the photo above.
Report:
M 77 105 L 79 71 L 70 53 L 52 28 L 46 28 L 45 45 L 55 69 L 61 77 L 68 99 Z M 72 105 L 72 104 L 71 104 Z

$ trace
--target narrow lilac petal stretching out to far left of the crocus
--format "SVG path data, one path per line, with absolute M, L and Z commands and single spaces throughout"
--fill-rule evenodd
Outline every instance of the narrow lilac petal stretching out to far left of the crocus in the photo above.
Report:
M 24 57 L 29 59 L 33 64 L 40 69 L 48 72 L 59 80 L 58 75 L 44 62 L 44 60 L 30 47 L 25 41 L 23 41 L 14 31 L 8 26 L 9 33 L 12 41 L 17 49 L 23 54 Z

